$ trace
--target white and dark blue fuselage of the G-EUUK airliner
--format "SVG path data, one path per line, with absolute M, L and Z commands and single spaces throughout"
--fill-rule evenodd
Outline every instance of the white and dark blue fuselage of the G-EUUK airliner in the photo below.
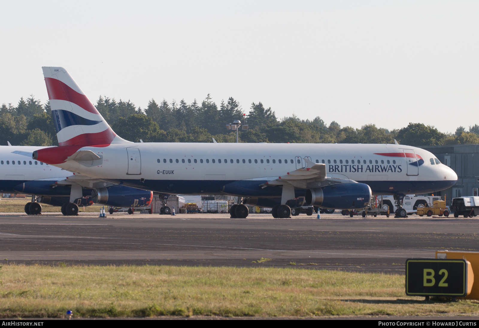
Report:
M 329 177 L 368 184 L 373 194 L 434 192 L 457 180 L 431 152 L 396 144 L 116 143 L 80 150 L 102 158 L 56 165 L 164 193 L 220 193 L 234 181 L 269 181 L 304 167 L 303 158 L 324 163 Z

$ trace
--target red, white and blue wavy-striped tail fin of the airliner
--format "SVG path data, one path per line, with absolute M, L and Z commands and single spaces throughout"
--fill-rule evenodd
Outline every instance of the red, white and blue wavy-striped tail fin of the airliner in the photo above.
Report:
M 42 67 L 60 146 L 108 146 L 118 137 L 63 67 Z

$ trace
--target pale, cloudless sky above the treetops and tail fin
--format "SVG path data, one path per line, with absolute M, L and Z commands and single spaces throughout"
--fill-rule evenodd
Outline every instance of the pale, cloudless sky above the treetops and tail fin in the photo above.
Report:
M 42 66 L 87 96 L 454 132 L 479 124 L 479 1 L 0 1 L 0 104 L 47 99 Z

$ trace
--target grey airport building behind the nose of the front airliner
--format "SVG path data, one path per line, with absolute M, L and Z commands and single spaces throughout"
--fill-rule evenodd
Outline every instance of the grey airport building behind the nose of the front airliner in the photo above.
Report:
M 441 163 L 457 174 L 457 183 L 451 188 L 434 194 L 446 196 L 447 204 L 453 197 L 479 196 L 479 145 L 443 145 L 420 147 L 432 152 Z

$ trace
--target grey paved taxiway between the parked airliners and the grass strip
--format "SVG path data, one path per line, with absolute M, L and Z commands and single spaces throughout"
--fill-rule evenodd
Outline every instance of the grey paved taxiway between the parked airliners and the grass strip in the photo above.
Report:
M 0 262 L 274 266 L 404 272 L 437 249 L 479 250 L 479 220 L 304 214 L 0 214 Z M 260 258 L 271 260 L 257 263 Z M 6 260 L 8 259 L 8 260 Z

